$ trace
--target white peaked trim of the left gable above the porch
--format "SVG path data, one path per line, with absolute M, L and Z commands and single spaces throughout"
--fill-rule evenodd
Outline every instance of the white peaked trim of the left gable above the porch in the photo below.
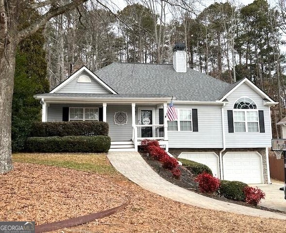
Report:
M 50 91 L 50 93 L 56 93 L 60 89 L 62 89 L 64 86 L 66 86 L 68 83 L 70 83 L 74 78 L 76 78 L 81 73 L 87 73 L 93 80 L 95 80 L 97 83 L 99 83 L 104 89 L 106 89 L 108 92 L 112 94 L 118 94 L 114 89 L 112 89 L 109 85 L 104 83 L 96 74 L 94 74 L 91 70 L 89 70 L 87 67 L 83 66 L 79 70 L 77 70 L 75 73 L 70 75 L 63 83 L 60 83 L 58 86 L 56 86 L 54 89 Z

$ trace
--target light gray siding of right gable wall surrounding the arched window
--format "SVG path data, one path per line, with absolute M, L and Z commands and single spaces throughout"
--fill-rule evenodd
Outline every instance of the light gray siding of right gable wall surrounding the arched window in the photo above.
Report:
M 254 100 L 258 110 L 263 110 L 265 133 L 228 133 L 227 110 L 232 110 L 236 100 L 241 97 L 248 97 Z M 246 83 L 243 83 L 226 99 L 229 101 L 224 107 L 226 148 L 271 147 L 269 106 L 263 105 L 262 97 L 253 91 Z

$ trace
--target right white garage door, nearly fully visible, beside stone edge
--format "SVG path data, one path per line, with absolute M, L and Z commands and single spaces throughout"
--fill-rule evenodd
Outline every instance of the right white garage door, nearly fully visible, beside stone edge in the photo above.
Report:
M 263 183 L 261 156 L 257 152 L 226 152 L 222 162 L 224 180 Z

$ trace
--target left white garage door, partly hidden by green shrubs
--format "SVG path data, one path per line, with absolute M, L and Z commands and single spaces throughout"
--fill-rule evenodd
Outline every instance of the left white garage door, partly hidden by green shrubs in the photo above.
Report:
M 213 176 L 219 177 L 219 156 L 214 152 L 182 152 L 178 158 L 204 164 L 212 170 Z

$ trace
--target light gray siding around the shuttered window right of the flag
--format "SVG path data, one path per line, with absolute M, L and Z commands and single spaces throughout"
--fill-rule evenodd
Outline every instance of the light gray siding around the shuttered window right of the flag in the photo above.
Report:
M 218 105 L 174 105 L 176 109 L 198 109 L 199 132 L 168 132 L 169 148 L 222 148 L 221 107 Z

